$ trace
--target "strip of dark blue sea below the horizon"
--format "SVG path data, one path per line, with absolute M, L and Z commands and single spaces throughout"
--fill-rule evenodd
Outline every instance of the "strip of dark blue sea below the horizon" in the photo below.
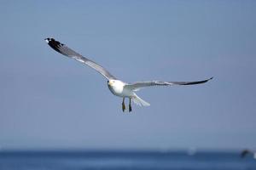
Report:
M 253 156 L 238 152 L 2 151 L 0 170 L 256 170 Z

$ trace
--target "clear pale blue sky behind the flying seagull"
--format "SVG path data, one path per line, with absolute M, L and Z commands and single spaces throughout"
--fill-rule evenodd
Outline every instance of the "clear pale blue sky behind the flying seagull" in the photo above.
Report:
M 2 149 L 256 148 L 254 1 L 1 1 Z M 125 82 L 150 107 L 121 99 L 66 43 Z

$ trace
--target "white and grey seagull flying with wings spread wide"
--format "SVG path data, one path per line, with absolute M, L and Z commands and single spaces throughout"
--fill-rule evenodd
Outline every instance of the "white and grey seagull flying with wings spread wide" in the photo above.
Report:
M 148 82 L 133 82 L 133 83 L 126 83 L 120 81 L 118 78 L 114 77 L 110 72 L 102 67 L 102 65 L 96 64 L 96 62 L 85 58 L 83 55 L 78 54 L 73 49 L 68 48 L 67 45 L 56 41 L 52 37 L 48 37 L 44 39 L 49 47 L 55 49 L 55 51 L 59 52 L 60 54 L 66 55 L 69 58 L 76 59 L 79 62 L 89 65 L 91 68 L 95 69 L 99 73 L 102 74 L 103 77 L 108 79 L 108 88 L 112 92 L 112 94 L 123 98 L 122 102 L 122 111 L 125 111 L 125 98 L 129 99 L 129 112 L 131 112 L 131 101 L 135 104 L 140 106 L 149 106 L 148 102 L 144 101 L 143 99 L 139 98 L 136 92 L 140 88 L 146 88 L 149 86 L 172 86 L 172 85 L 194 85 L 194 84 L 201 84 L 208 82 L 212 79 L 206 79 L 202 81 L 196 82 L 161 82 L 161 81 L 148 81 Z

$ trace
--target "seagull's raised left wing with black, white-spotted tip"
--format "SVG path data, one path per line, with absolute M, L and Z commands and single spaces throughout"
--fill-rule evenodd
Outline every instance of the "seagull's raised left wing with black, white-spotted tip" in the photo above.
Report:
M 102 67 L 102 65 L 98 65 L 95 62 L 93 62 L 90 59 L 86 59 L 84 56 L 82 56 L 81 54 L 78 54 L 77 52 L 73 51 L 73 49 L 68 48 L 65 44 L 55 41 L 54 38 L 48 37 L 44 39 L 49 47 L 55 49 L 55 51 L 66 55 L 67 57 L 70 57 L 72 59 L 76 59 L 81 63 L 84 63 L 85 65 L 89 65 L 91 68 L 95 69 L 96 71 L 98 71 L 99 73 L 102 74 L 103 77 L 106 77 L 108 80 L 109 79 L 116 79 L 115 77 L 113 77 L 112 74 L 110 74 L 106 69 L 104 69 Z

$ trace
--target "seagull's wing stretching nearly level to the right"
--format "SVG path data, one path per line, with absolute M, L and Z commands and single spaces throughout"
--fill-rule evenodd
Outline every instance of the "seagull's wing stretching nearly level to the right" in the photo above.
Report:
M 197 82 L 160 82 L 160 81 L 134 82 L 132 84 L 126 84 L 125 88 L 129 88 L 131 90 L 138 90 L 140 88 L 146 88 L 149 86 L 194 85 L 194 84 L 201 84 L 201 83 L 208 82 L 212 78 L 213 77 L 211 77 L 207 80 L 202 80 L 202 81 L 197 81 Z

